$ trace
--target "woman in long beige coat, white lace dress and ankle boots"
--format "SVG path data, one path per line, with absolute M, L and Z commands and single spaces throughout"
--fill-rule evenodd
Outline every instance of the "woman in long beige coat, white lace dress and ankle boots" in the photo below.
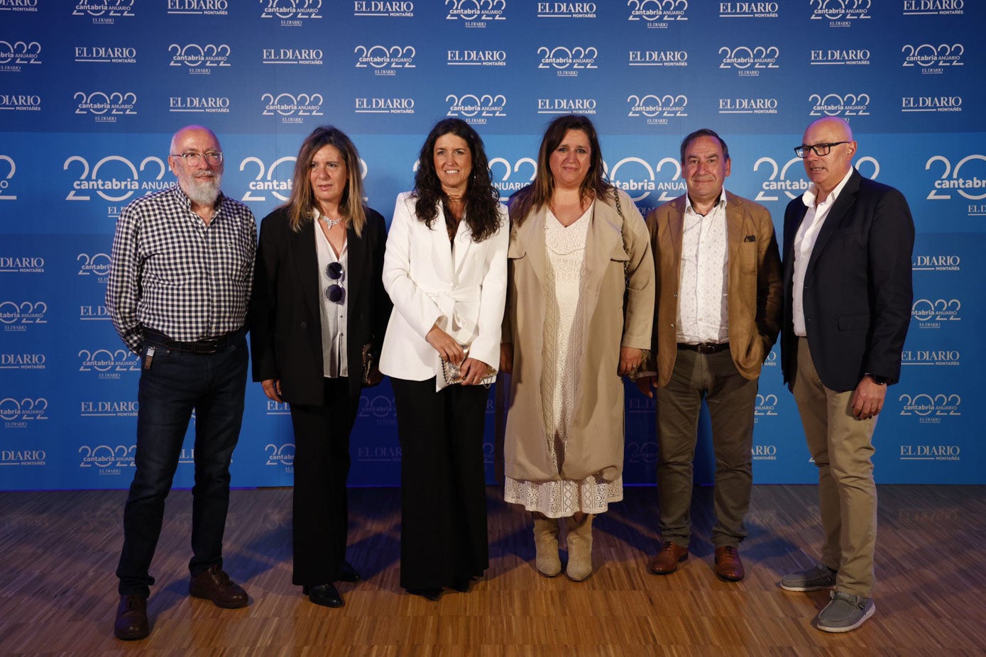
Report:
M 535 565 L 592 573 L 593 515 L 623 498 L 623 384 L 651 341 L 654 260 L 644 220 L 603 179 L 585 116 L 555 119 L 534 182 L 510 208 L 500 367 L 512 373 L 505 498 L 534 517 Z

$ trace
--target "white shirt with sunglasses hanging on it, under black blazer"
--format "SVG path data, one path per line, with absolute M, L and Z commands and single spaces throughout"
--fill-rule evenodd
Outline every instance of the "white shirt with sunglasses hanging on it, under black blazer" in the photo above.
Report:
M 349 286 L 346 276 L 349 265 L 349 240 L 342 245 L 342 252 L 336 257 L 332 245 L 328 243 L 319 222 L 312 222 L 315 227 L 315 243 L 318 258 L 318 292 L 321 303 L 318 304 L 318 314 L 321 316 L 321 361 L 322 373 L 332 378 L 349 376 L 349 363 L 346 359 L 346 308 L 349 305 Z M 328 278 L 325 268 L 330 263 L 342 265 L 342 276 L 338 280 Z M 340 286 L 345 292 L 341 303 L 328 300 L 325 290 L 331 285 Z

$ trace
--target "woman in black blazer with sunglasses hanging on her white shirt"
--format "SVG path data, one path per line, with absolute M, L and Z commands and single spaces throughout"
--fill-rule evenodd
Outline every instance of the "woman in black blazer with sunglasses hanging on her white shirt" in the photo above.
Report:
M 363 204 L 356 147 L 319 127 L 302 144 L 291 197 L 260 226 L 250 347 L 253 380 L 291 406 L 295 434 L 293 581 L 317 605 L 344 603 L 349 432 L 390 315 L 382 272 L 387 229 Z

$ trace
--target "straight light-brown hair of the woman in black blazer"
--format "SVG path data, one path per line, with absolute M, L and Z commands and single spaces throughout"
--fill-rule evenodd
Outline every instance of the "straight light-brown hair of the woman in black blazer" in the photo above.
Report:
M 288 209 L 291 230 L 299 232 L 308 222 L 314 221 L 316 201 L 312 191 L 312 160 L 324 146 L 333 146 L 346 164 L 346 189 L 342 192 L 339 211 L 342 216 L 361 234 L 367 223 L 366 206 L 363 204 L 363 176 L 360 174 L 360 154 L 356 146 L 342 132 L 331 125 L 317 127 L 302 142 L 295 159 L 295 172 L 292 176 L 291 196 L 282 208 Z

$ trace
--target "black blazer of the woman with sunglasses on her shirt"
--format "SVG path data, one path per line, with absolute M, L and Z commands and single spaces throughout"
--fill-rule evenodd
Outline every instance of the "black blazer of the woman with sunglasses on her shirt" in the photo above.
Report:
M 380 361 L 390 316 L 383 283 L 384 218 L 368 208 L 363 235 L 350 227 L 346 239 L 346 359 L 349 390 L 355 394 L 362 387 L 363 346 L 370 343 L 374 362 Z M 249 312 L 253 380 L 280 379 L 281 397 L 291 404 L 324 402 L 320 274 L 311 223 L 295 232 L 283 208 L 267 215 L 260 225 Z

